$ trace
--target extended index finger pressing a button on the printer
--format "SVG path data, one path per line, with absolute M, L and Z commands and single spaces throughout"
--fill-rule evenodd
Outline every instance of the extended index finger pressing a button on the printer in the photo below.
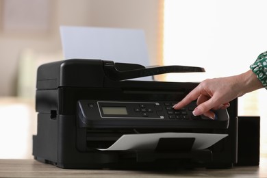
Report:
M 185 107 L 186 105 L 191 103 L 192 101 L 198 99 L 200 95 L 201 95 L 201 92 L 199 91 L 199 87 L 196 87 L 194 88 L 194 90 L 188 93 L 186 97 L 184 97 L 181 101 L 179 101 L 176 105 L 174 105 L 173 108 L 175 110 L 179 110 L 182 107 Z

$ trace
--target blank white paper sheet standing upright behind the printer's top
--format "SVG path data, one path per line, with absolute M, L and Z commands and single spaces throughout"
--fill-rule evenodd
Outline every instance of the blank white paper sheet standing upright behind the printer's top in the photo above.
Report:
M 142 29 L 60 27 L 64 58 L 111 60 L 150 66 Z M 142 77 L 138 80 L 149 80 Z

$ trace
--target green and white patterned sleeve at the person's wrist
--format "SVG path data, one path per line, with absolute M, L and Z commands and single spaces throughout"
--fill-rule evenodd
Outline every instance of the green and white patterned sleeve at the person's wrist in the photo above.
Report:
M 251 70 L 257 75 L 264 88 L 267 89 L 267 51 L 261 53 L 257 60 L 251 64 Z

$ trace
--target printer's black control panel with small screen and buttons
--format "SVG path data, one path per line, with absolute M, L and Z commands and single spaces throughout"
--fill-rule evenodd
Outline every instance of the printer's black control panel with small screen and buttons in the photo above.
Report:
M 174 110 L 175 101 L 79 101 L 86 116 L 92 119 L 164 119 L 164 120 L 202 120 L 205 116 L 194 116 L 192 111 L 196 102 L 181 110 Z

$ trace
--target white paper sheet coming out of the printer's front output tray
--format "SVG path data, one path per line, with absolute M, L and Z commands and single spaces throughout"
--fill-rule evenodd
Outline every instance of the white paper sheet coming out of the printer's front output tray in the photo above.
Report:
M 192 150 L 201 150 L 211 147 L 219 140 L 228 136 L 227 134 L 212 133 L 143 133 L 127 134 L 121 136 L 111 147 L 99 149 L 101 151 L 121 150 L 153 150 L 157 147 L 160 138 L 195 138 Z

